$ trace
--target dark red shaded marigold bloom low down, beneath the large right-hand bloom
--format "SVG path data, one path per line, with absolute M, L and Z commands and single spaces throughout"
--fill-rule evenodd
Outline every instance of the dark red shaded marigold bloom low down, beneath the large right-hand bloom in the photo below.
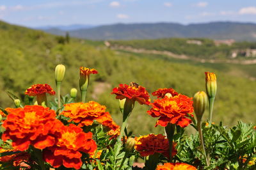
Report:
M 173 143 L 172 156 L 176 155 L 175 143 Z M 164 135 L 143 135 L 136 139 L 134 147 L 140 152 L 141 157 L 147 157 L 148 155 L 154 155 L 154 153 L 161 153 L 165 157 L 169 157 L 169 142 Z

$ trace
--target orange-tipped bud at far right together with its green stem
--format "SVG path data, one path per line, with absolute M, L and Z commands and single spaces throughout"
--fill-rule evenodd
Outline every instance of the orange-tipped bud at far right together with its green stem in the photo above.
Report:
M 211 125 L 213 104 L 217 91 L 217 81 L 215 73 L 205 72 L 205 88 L 209 100 L 209 125 Z

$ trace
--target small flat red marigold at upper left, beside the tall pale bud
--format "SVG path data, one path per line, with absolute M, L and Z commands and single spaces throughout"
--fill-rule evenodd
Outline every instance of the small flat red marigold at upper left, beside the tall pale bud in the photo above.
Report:
M 48 84 L 34 84 L 30 88 L 26 89 L 25 95 L 35 97 L 44 93 L 55 95 L 55 91 Z

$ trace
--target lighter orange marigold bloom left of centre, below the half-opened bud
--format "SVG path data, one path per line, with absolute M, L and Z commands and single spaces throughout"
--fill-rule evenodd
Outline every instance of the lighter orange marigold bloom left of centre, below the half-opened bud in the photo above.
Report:
M 94 120 L 109 128 L 115 129 L 118 127 L 113 122 L 109 112 L 106 112 L 106 106 L 94 101 L 85 104 L 82 102 L 65 104 L 65 110 L 61 114 L 70 118 L 69 122 L 79 123 L 79 127 L 92 125 Z

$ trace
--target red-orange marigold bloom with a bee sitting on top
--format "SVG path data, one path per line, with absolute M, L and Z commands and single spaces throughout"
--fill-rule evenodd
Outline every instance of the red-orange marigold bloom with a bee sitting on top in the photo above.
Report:
M 142 86 L 129 86 L 127 84 L 119 84 L 119 87 L 113 88 L 111 94 L 116 95 L 116 99 L 129 98 L 131 100 L 136 100 L 140 104 L 150 104 L 150 98 L 148 92 Z

